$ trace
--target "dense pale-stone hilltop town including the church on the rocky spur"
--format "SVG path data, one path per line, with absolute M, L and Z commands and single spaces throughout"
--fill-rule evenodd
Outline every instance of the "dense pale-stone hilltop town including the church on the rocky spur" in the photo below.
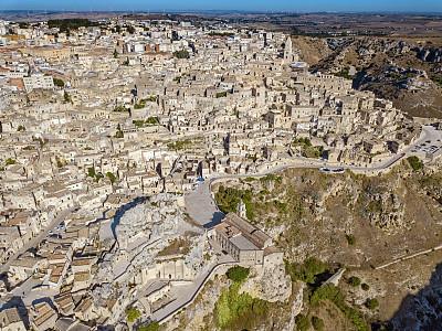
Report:
M 308 68 L 290 35 L 229 24 L 0 21 L 0 329 L 138 330 L 238 265 L 286 301 L 272 231 L 213 181 L 442 154 L 438 122 Z

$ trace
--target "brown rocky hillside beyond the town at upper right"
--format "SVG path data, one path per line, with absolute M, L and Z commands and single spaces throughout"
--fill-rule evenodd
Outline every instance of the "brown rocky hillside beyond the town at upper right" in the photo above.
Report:
M 419 117 L 442 118 L 441 40 L 295 36 L 314 72 L 354 78 L 354 87 Z

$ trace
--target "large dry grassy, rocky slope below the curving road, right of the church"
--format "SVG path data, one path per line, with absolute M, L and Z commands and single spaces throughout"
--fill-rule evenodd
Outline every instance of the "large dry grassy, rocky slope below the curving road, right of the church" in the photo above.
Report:
M 273 236 L 285 254 L 286 273 L 294 285 L 305 286 L 301 316 L 309 323 L 320 319 L 324 330 L 399 327 L 400 316 L 415 305 L 410 298 L 422 297 L 428 284 L 439 279 L 434 269 L 442 252 L 431 248 L 441 244 L 442 236 L 440 171 L 413 172 L 407 161 L 373 178 L 348 171 L 325 174 L 316 169 L 291 169 L 260 180 L 218 183 L 213 190 L 221 209 L 233 209 L 243 200 L 248 217 Z M 430 253 L 382 267 L 422 249 Z M 346 268 L 339 287 L 319 287 L 339 267 Z M 422 299 L 425 305 L 419 306 L 422 316 L 407 316 L 424 318 L 430 325 L 431 319 L 439 317 L 442 296 L 439 290 L 429 292 L 424 291 Z M 251 293 L 260 297 L 257 291 Z M 295 296 L 294 290 L 290 300 Z M 287 303 L 280 305 L 288 311 Z M 273 316 L 275 311 L 269 307 Z M 273 330 L 265 321 L 270 322 L 260 319 L 259 329 Z M 284 320 L 278 330 L 295 330 L 288 324 Z

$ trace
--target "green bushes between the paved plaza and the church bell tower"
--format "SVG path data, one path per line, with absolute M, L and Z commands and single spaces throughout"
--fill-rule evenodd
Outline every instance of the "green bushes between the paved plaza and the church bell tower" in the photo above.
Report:
M 214 194 L 214 199 L 223 213 L 235 213 L 236 206 L 242 200 L 245 204 L 245 216 L 250 221 L 255 220 L 255 213 L 253 212 L 255 205 L 253 203 L 253 194 L 251 190 L 238 190 L 233 188 L 225 189 L 221 185 Z

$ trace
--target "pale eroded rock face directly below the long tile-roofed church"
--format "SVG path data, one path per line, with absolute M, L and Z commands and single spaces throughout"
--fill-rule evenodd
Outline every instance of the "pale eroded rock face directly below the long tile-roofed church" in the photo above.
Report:
M 240 293 L 242 292 L 269 302 L 285 302 L 292 295 L 292 280 L 285 274 L 283 263 L 253 268 L 250 277 L 240 288 Z

